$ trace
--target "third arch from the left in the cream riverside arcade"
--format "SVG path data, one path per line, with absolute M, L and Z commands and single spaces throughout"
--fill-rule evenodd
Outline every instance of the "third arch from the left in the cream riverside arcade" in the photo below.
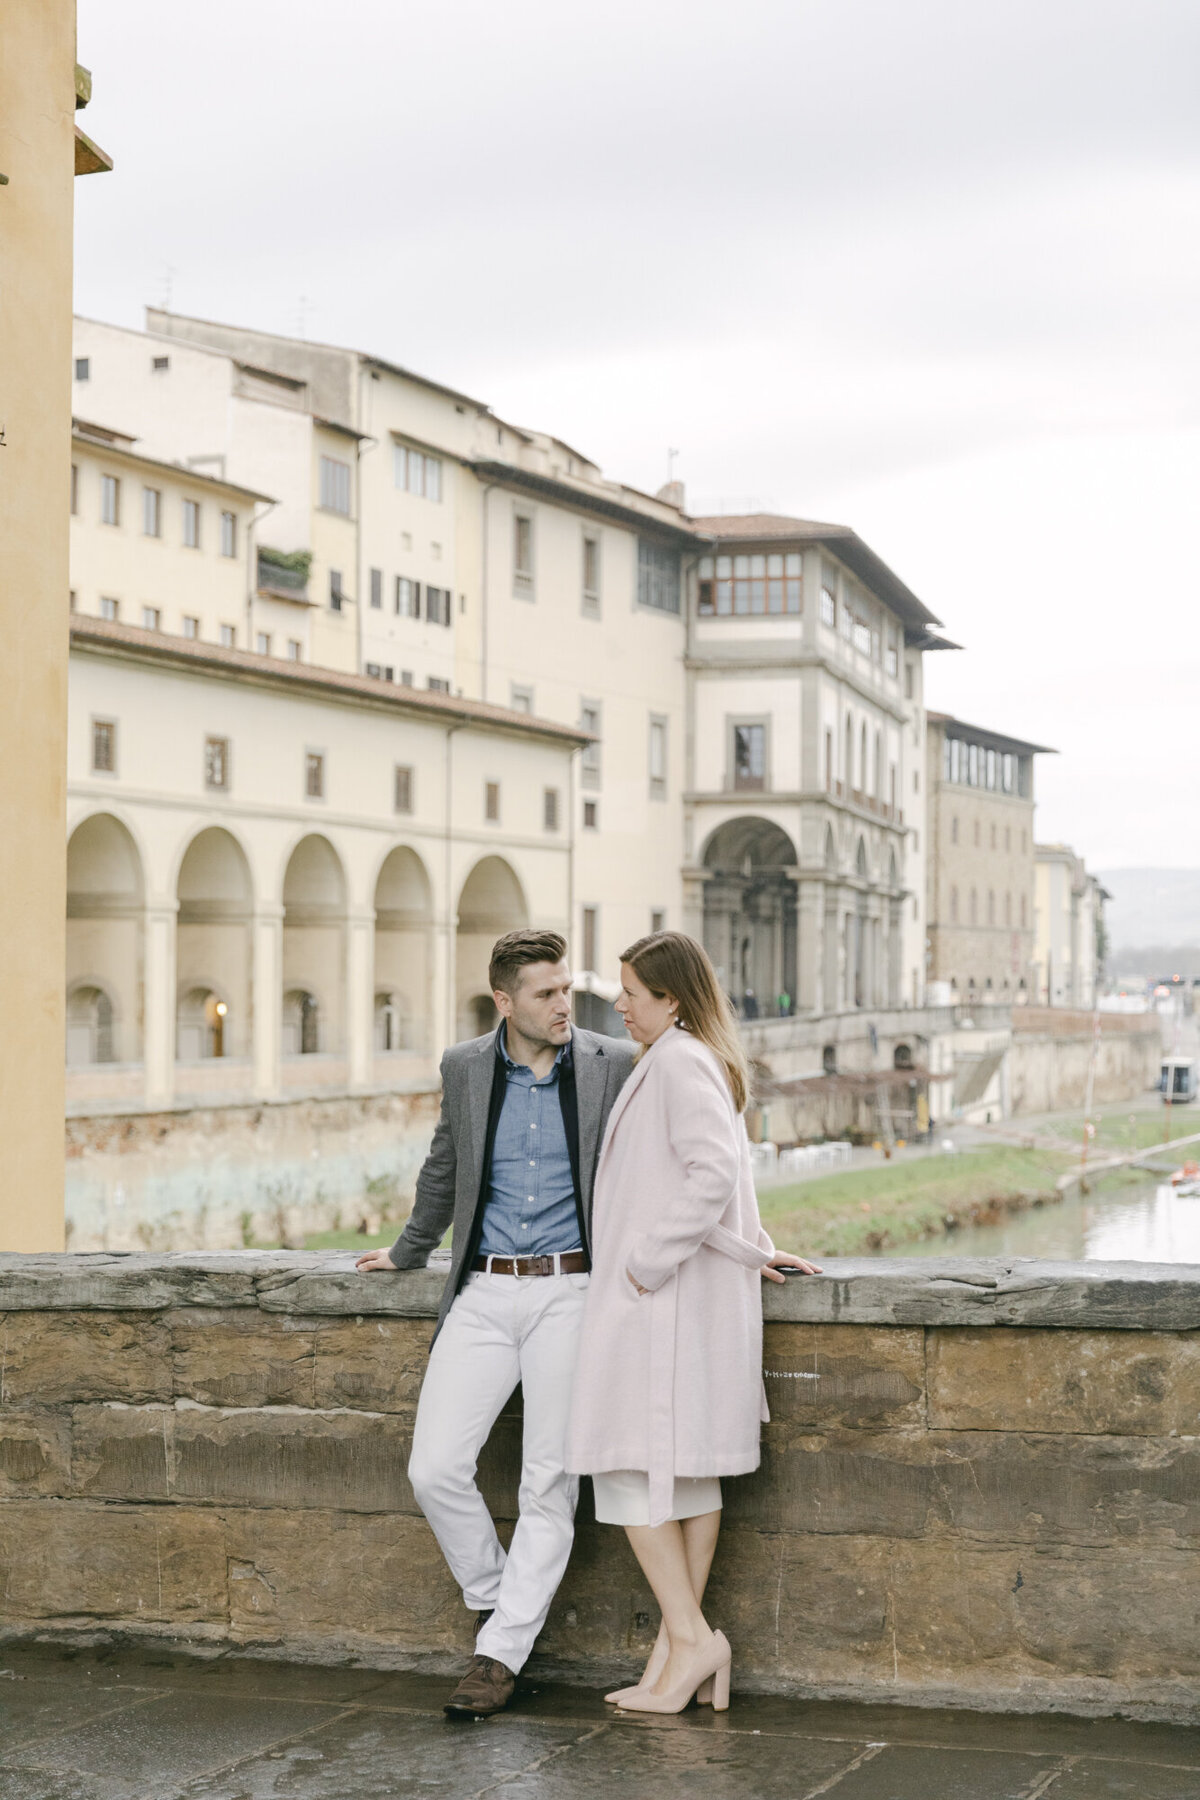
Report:
M 338 1055 L 345 1042 L 345 869 L 320 832 L 282 878 L 282 1051 Z

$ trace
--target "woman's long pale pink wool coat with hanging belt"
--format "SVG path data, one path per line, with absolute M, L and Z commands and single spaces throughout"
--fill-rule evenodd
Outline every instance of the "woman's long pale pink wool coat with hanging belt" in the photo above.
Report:
M 617 1096 L 596 1170 L 570 1471 L 646 1469 L 660 1525 L 675 1476 L 757 1469 L 772 1256 L 725 1071 L 671 1028 Z

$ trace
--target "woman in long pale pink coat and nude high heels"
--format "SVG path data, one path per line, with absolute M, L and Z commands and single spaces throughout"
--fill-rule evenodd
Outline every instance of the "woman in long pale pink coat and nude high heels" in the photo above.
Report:
M 775 1253 L 759 1222 L 747 1062 L 703 949 L 676 931 L 639 938 L 615 1004 L 642 1049 L 596 1170 L 569 1467 L 592 1476 L 597 1521 L 624 1525 L 662 1609 L 642 1679 L 608 1699 L 682 1712 L 696 1696 L 723 1710 L 729 1643 L 700 1600 L 720 1476 L 759 1462 L 759 1271 L 820 1271 Z

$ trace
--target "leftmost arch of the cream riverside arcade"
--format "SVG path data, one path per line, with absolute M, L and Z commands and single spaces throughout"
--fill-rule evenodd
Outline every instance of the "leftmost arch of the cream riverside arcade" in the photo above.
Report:
M 70 1064 L 142 1057 L 144 895 L 142 857 L 131 832 L 110 812 L 90 814 L 67 844 Z

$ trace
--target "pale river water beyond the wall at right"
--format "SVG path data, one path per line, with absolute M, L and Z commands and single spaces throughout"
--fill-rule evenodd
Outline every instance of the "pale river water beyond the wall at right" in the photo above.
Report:
M 1000 1224 L 896 1244 L 883 1256 L 1040 1256 L 1047 1262 L 1200 1264 L 1200 1195 L 1153 1177 L 1110 1175 L 1090 1193 L 1009 1213 Z

